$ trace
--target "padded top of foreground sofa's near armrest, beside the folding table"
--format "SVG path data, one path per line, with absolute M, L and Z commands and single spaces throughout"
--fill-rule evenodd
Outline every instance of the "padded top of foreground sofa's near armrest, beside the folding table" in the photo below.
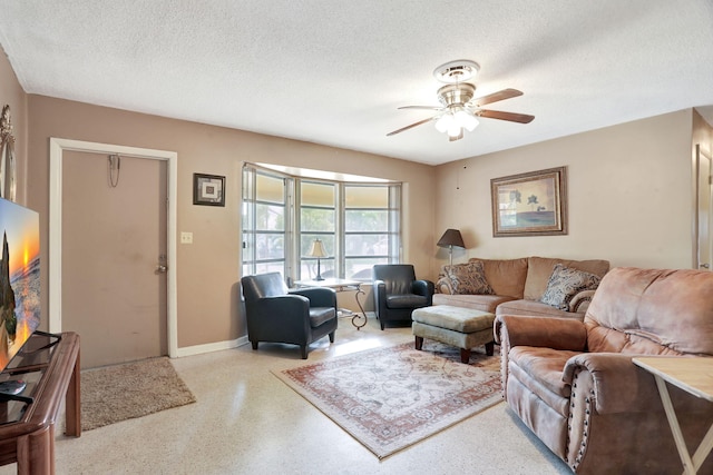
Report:
M 662 410 L 654 377 L 636 366 L 638 355 L 583 353 L 567 360 L 563 382 L 573 387 L 578 378 L 590 379 L 590 397 L 598 414 L 646 413 Z

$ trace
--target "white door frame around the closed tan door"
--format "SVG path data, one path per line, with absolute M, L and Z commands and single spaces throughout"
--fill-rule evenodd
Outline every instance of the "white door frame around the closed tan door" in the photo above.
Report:
M 125 147 L 110 144 L 98 144 L 50 137 L 49 139 L 49 331 L 62 330 L 62 158 L 65 151 L 82 151 L 89 154 L 117 154 L 125 157 L 146 158 L 166 161 L 168 167 L 168 208 L 166 238 L 168 251 L 167 271 L 167 311 L 166 333 L 168 356 L 177 357 L 178 353 L 178 296 L 176 290 L 176 217 L 178 182 L 178 154 L 168 150 Z

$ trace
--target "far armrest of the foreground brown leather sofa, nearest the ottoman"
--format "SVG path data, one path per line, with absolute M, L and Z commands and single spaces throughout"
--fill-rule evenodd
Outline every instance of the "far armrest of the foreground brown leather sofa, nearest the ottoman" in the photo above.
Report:
M 494 334 L 496 343 L 507 340 L 508 350 L 514 346 L 537 346 L 584 352 L 587 345 L 586 327 L 572 318 L 499 315 Z

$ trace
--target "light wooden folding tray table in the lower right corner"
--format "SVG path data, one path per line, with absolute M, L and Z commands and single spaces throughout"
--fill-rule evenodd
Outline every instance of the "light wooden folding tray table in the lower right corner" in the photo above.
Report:
M 678 455 L 683 462 L 683 471 L 686 475 L 693 475 L 701 467 L 705 457 L 713 449 L 713 425 L 703 437 L 701 445 L 693 454 L 688 454 L 686 443 L 683 439 L 678 418 L 671 402 L 666 383 L 703 399 L 713 403 L 713 358 L 685 357 L 685 356 L 655 356 L 638 357 L 634 364 L 654 375 L 661 402 L 666 410 L 668 425 L 673 432 L 673 438 L 678 448 Z

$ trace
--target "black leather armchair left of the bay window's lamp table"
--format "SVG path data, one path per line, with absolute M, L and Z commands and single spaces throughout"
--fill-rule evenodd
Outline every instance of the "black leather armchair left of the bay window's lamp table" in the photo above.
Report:
M 302 359 L 310 344 L 325 335 L 334 343 L 336 293 L 309 287 L 290 290 L 280 273 L 245 276 L 241 279 L 247 317 L 247 339 L 257 349 L 260 342 L 300 345 Z

